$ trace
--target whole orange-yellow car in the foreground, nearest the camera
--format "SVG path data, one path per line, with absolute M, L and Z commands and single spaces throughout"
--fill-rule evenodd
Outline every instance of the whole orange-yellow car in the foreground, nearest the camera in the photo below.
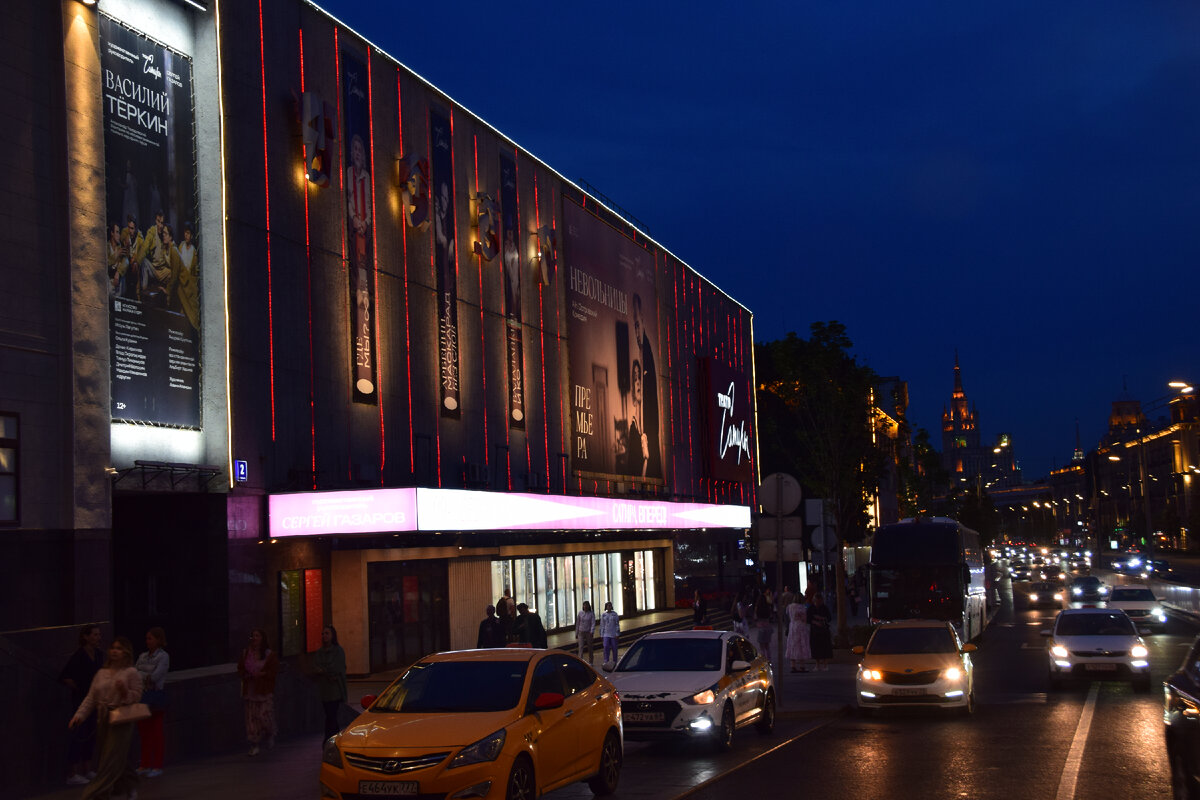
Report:
M 620 699 L 562 650 L 426 656 L 325 742 L 320 796 L 532 800 L 575 781 L 617 789 Z

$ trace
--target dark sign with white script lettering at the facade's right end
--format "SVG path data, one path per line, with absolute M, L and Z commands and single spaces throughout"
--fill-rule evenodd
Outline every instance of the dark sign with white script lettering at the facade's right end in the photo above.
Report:
M 718 481 L 752 481 L 750 380 L 745 373 L 713 359 L 704 359 L 703 369 L 700 405 L 706 417 L 708 474 Z

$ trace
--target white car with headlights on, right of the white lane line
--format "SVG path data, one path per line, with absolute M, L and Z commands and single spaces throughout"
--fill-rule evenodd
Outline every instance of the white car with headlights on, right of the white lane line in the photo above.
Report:
M 1046 646 L 1050 688 L 1081 680 L 1132 680 L 1150 691 L 1150 651 L 1138 628 L 1118 608 L 1066 608 L 1055 618 Z

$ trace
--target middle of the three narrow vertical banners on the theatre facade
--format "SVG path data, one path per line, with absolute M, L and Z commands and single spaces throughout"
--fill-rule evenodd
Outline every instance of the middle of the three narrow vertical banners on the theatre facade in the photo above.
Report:
M 433 184 L 433 261 L 438 289 L 438 371 L 442 414 L 458 416 L 458 249 L 454 215 L 450 115 L 430 109 L 430 180 Z

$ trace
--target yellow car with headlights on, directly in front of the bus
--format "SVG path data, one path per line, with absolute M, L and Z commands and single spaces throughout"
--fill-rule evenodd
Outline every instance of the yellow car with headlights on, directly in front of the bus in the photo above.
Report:
M 973 644 L 962 644 L 949 622 L 900 620 L 875 628 L 863 656 L 856 692 L 863 714 L 901 705 L 974 712 Z

